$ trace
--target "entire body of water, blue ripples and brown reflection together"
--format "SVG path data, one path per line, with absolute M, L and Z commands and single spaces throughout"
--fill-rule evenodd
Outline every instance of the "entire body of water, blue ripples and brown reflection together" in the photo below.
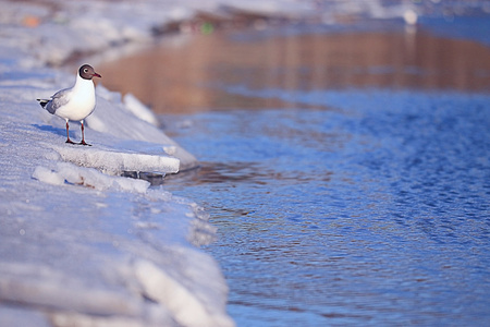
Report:
M 488 48 L 419 33 L 232 37 L 102 74 L 159 111 L 205 111 L 162 117 L 201 161 L 163 187 L 218 226 L 206 251 L 237 325 L 489 325 L 490 97 L 462 93 L 488 88 Z M 222 108 L 236 110 L 206 112 Z

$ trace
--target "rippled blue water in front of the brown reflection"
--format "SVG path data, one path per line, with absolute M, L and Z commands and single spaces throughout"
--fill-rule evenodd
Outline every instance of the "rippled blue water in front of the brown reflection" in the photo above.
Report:
M 299 105 L 162 120 L 238 326 L 490 324 L 490 96 L 233 90 Z

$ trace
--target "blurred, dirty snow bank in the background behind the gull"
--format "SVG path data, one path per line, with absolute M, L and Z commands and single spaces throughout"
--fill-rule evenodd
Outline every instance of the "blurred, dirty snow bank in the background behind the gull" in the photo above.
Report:
M 79 55 L 102 52 L 127 43 L 144 43 L 154 31 L 174 22 L 184 22 L 198 12 L 216 13 L 226 7 L 236 10 L 287 16 L 311 12 L 311 2 L 298 4 L 294 0 L 253 1 L 50 1 L 52 5 L 36 2 L 7 1 L 2 3 L 0 23 L 3 39 L 29 58 L 24 64 L 58 65 Z M 20 28 L 22 26 L 23 28 Z M 25 35 L 28 28 L 28 36 Z M 17 38 L 19 37 L 19 38 Z M 17 38 L 17 39 L 16 39 Z

